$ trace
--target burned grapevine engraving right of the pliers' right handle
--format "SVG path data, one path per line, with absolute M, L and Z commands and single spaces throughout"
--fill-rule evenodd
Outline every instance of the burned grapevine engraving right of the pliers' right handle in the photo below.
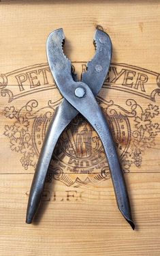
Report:
M 154 122 L 154 117 L 159 115 L 159 106 L 148 104 L 146 109 L 142 109 L 140 104 L 135 100 L 131 100 L 132 108 L 136 110 L 134 118 L 135 128 L 132 131 L 129 148 L 123 158 L 123 166 L 125 171 L 129 171 L 132 164 L 140 167 L 142 164 L 142 154 L 146 148 L 155 145 L 155 137 L 160 132 L 159 124 Z

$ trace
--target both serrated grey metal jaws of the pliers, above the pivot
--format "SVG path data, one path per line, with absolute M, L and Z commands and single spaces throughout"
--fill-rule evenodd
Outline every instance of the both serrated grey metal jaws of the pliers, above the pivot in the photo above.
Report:
M 46 53 L 50 70 L 61 94 L 65 93 L 69 85 L 71 87 L 73 85 L 76 86 L 71 74 L 71 61 L 63 52 L 64 43 L 65 34 L 63 29 L 57 29 L 50 33 L 46 42 Z M 97 95 L 108 73 L 112 58 L 112 42 L 107 33 L 96 29 L 93 43 L 95 44 L 95 55 L 87 63 L 86 72 L 82 73 L 82 82 L 89 85 L 93 94 Z

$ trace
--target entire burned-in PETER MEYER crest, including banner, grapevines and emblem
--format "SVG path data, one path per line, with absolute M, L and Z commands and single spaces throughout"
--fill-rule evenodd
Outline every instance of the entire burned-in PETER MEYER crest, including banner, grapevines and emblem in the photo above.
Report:
M 15 85 L 11 87 L 13 81 Z M 153 89 L 153 83 L 157 88 Z M 3 134 L 10 140 L 12 152 L 18 152 L 25 170 L 37 165 L 46 129 L 61 102 L 48 100 L 45 107 L 40 107 L 32 94 L 54 88 L 46 64 L 1 76 L 1 96 L 9 96 L 9 102 L 12 102 L 3 109 L 3 115 L 10 119 L 10 125 L 5 125 Z M 129 172 L 132 166 L 141 167 L 144 151 L 155 145 L 155 138 L 160 132 L 157 122 L 159 106 L 155 103 L 160 91 L 159 74 L 125 64 L 112 64 L 103 88 L 129 93 L 123 106 L 114 100 L 108 102 L 97 97 L 112 130 L 123 171 Z M 33 100 L 18 108 L 13 101 L 28 94 Z M 131 94 L 146 98 L 146 106 L 142 108 Z M 61 134 L 46 181 L 52 182 L 54 178 L 67 186 L 78 187 L 98 184 L 109 177 L 101 141 L 91 125 L 78 115 Z

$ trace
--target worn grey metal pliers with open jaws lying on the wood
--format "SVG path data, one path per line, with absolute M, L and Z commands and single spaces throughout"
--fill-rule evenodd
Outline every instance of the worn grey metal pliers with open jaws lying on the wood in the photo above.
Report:
M 64 98 L 54 112 L 46 132 L 31 185 L 26 222 L 31 223 L 33 221 L 42 199 L 46 173 L 54 147 L 63 130 L 80 113 L 93 126 L 101 139 L 110 167 L 118 208 L 134 229 L 127 188 L 114 140 L 106 117 L 95 99 L 106 79 L 110 66 L 112 57 L 110 37 L 107 33 L 99 29 L 96 30 L 94 36 L 95 56 L 87 63 L 87 70 L 82 73 L 81 81 L 77 81 L 76 76 L 72 74 L 71 61 L 63 53 L 64 40 L 63 29 L 57 29 L 50 33 L 46 44 L 50 70 Z

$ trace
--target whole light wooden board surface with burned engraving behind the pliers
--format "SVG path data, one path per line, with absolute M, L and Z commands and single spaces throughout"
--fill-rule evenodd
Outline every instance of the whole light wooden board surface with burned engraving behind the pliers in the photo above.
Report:
M 158 256 L 159 1 L 1 1 L 0 21 L 0 255 Z M 65 53 L 80 77 L 95 51 L 97 25 L 113 44 L 97 100 L 121 157 L 135 231 L 116 207 L 97 134 L 81 117 L 63 133 L 41 208 L 27 225 L 29 189 L 50 121 L 46 113 L 53 115 L 61 102 L 48 70 L 46 38 L 63 27 Z

